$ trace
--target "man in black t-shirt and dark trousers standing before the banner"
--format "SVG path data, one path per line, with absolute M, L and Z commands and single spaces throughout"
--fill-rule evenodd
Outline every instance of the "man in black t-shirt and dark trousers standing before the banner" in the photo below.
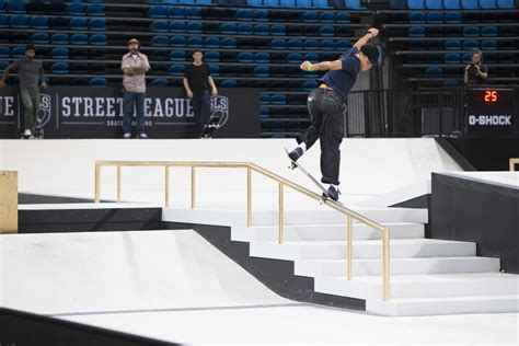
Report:
M 209 65 L 201 61 L 201 51 L 195 51 L 193 54 L 193 64 L 188 65 L 184 72 L 184 88 L 193 105 L 195 137 L 197 138 L 201 136 L 204 127 L 209 123 L 211 94 L 214 96 L 218 95 L 218 89 L 212 80 Z

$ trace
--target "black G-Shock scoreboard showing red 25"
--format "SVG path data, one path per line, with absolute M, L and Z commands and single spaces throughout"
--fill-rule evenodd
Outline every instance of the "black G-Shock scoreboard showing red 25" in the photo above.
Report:
M 516 90 L 472 88 L 466 90 L 465 137 L 512 137 L 516 130 Z

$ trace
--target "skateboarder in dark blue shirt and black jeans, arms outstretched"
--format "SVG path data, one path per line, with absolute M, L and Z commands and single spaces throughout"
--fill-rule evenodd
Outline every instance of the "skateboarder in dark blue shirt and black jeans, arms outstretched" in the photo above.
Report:
M 357 41 L 351 49 L 337 60 L 311 64 L 303 61 L 300 66 L 305 71 L 328 71 L 319 80 L 319 88 L 308 96 L 308 109 L 312 124 L 296 137 L 298 147 L 289 157 L 297 161 L 319 139 L 321 143 L 321 182 L 330 184 L 327 194 L 338 200 L 338 176 L 341 169 L 339 146 L 344 137 L 343 114 L 346 112 L 346 99 L 357 81 L 360 71 L 368 71 L 378 66 L 379 50 L 367 43 L 376 37 L 379 31 L 374 27 Z

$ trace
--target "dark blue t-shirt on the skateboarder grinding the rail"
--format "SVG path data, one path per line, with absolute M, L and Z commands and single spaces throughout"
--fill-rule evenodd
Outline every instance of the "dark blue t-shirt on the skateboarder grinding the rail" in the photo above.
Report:
M 343 54 L 339 60 L 343 62 L 341 70 L 327 71 L 319 82 L 325 83 L 335 90 L 346 101 L 351 88 L 354 88 L 360 72 L 360 60 L 355 56 L 359 50 L 351 48 Z

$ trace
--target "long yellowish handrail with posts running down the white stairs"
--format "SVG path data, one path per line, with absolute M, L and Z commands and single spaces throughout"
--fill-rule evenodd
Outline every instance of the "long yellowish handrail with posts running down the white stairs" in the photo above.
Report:
M 117 168 L 117 203 L 120 203 L 120 174 L 123 166 L 161 166 L 164 168 L 164 204 L 170 206 L 170 168 L 191 168 L 191 208 L 196 207 L 196 169 L 197 168 L 227 168 L 246 169 L 247 171 L 247 227 L 252 226 L 252 172 L 256 172 L 278 183 L 278 243 L 284 243 L 284 187 L 305 195 L 310 198 L 322 201 L 330 208 L 346 215 L 347 217 L 347 279 L 351 279 L 353 263 L 353 220 L 357 220 L 374 230 L 382 232 L 382 299 L 390 300 L 390 237 L 389 228 L 368 219 L 367 217 L 353 211 L 345 206 L 330 199 L 324 199 L 308 188 L 304 188 L 282 176 L 265 170 L 251 162 L 201 162 L 201 161 L 95 161 L 95 203 L 101 201 L 101 168 Z

